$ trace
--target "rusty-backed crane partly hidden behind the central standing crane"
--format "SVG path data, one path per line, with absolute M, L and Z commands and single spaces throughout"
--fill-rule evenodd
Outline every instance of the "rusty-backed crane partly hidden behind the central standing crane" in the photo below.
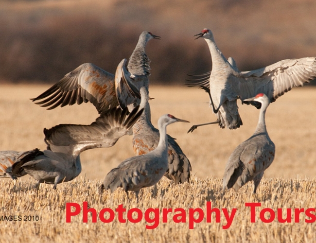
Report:
M 148 103 L 148 90 L 140 89 L 140 106 L 145 107 L 140 118 L 133 126 L 133 147 L 136 155 L 147 154 L 154 150 L 159 142 L 159 130 L 150 121 L 150 106 Z M 143 104 L 144 103 L 144 104 Z M 167 134 L 168 141 L 168 170 L 165 176 L 174 180 L 176 184 L 188 182 L 191 173 L 191 164 L 182 152 L 176 140 Z

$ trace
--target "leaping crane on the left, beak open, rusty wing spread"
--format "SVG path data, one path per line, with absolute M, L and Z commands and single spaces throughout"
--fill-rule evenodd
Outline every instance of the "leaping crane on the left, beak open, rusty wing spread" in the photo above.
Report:
M 115 83 L 115 76 L 112 73 L 92 63 L 85 63 L 67 73 L 59 82 L 31 100 L 35 104 L 48 107 L 49 110 L 57 106 L 63 107 L 75 103 L 90 102 L 96 107 L 99 114 L 117 107 L 119 105 L 118 99 L 121 101 L 122 108 L 132 103 L 139 104 L 139 88 L 148 87 L 150 60 L 145 53 L 145 47 L 151 39 L 160 39 L 160 37 L 147 31 L 142 32 L 130 57 L 128 69 L 130 69 L 130 73 L 137 76 L 134 83 Z M 124 92 L 120 93 L 119 87 L 122 86 L 124 86 Z

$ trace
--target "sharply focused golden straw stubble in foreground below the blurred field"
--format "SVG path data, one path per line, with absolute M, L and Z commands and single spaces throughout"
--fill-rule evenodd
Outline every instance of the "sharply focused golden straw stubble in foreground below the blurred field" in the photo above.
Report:
M 246 185 L 238 193 L 229 191 L 224 196 L 220 179 L 196 179 L 188 184 L 170 185 L 163 179 L 155 187 L 140 192 L 140 202 L 135 196 L 126 200 L 125 192 L 117 190 L 113 194 L 106 191 L 103 195 L 96 192 L 98 180 L 83 180 L 82 177 L 70 183 L 58 185 L 53 190 L 51 185 L 41 185 L 34 190 L 34 182 L 0 181 L 0 208 L 2 215 L 21 215 L 22 221 L 0 221 L 0 242 L 315 242 L 315 223 L 305 223 L 305 213 L 301 213 L 299 223 L 294 222 L 294 208 L 315 208 L 316 181 L 300 179 L 263 179 L 258 193 L 253 195 L 252 185 Z M 88 223 L 83 223 L 83 209 L 77 216 L 66 223 L 66 203 L 88 202 L 88 207 L 99 213 L 103 208 L 114 210 L 123 204 L 126 210 L 140 208 L 144 213 L 148 208 L 159 208 L 159 223 L 155 229 L 146 229 L 144 217 L 139 223 L 119 223 L 117 214 L 111 223 L 100 219 L 92 223 L 89 214 Z M 200 223 L 189 229 L 189 208 L 201 208 L 206 214 L 206 202 L 211 201 L 211 208 L 221 210 L 220 223 L 215 222 L 212 213 L 211 223 L 206 222 L 206 215 Z M 250 208 L 246 202 L 261 202 L 256 208 L 256 223 L 250 223 Z M 167 222 L 162 222 L 162 208 L 172 208 Z M 174 210 L 186 211 L 186 223 L 173 222 Z M 230 214 L 233 208 L 236 214 L 228 229 L 223 229 L 227 221 L 222 212 L 227 208 Z M 283 218 L 286 208 L 291 208 L 291 223 L 263 223 L 259 219 L 263 208 L 282 208 Z M 73 210 L 73 208 L 72 208 Z M 126 219 L 125 212 L 123 218 Z M 39 216 L 38 221 L 23 221 L 24 216 Z M 269 218 L 269 213 L 265 217 Z M 105 214 L 105 218 L 108 215 Z M 137 214 L 133 215 L 137 218 Z M 151 216 L 153 217 L 153 216 Z M 195 214 L 197 217 L 197 214 Z

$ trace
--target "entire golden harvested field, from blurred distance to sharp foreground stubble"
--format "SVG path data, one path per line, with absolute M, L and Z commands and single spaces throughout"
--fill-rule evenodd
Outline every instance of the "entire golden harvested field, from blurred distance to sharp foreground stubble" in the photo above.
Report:
M 47 88 L 42 85 L 1 85 L 1 150 L 44 149 L 44 127 L 59 123 L 89 124 L 98 116 L 90 104 L 47 111 L 28 100 Z M 265 172 L 256 195 L 252 194 L 252 184 L 247 184 L 237 193 L 229 191 L 223 196 L 221 178 L 225 164 L 234 148 L 252 135 L 259 111 L 239 103 L 244 122 L 241 128 L 230 131 L 211 125 L 187 134 L 192 124 L 215 120 L 208 107 L 208 95 L 196 88 L 151 87 L 150 96 L 155 98 L 150 102 L 154 125 L 157 126 L 158 117 L 164 113 L 191 121 L 189 125 L 170 125 L 167 130 L 177 138 L 192 163 L 192 181 L 170 185 L 170 181 L 163 179 L 157 188 L 141 192 L 138 204 L 133 194 L 130 194 L 131 201 L 126 200 L 122 190 L 100 196 L 97 186 L 105 174 L 123 159 L 134 155 L 132 138 L 125 136 L 112 148 L 84 152 L 81 156 L 82 174 L 72 182 L 59 184 L 56 191 L 51 185 L 41 185 L 37 191 L 35 181 L 28 177 L 16 182 L 1 180 L 0 217 L 37 215 L 39 220 L 1 221 L 0 242 L 315 242 L 315 223 L 305 222 L 314 217 L 307 217 L 305 214 L 308 213 L 304 211 L 295 220 L 294 212 L 295 208 L 315 208 L 315 92 L 313 87 L 295 88 L 269 106 L 266 123 L 270 138 L 276 144 L 274 162 Z M 127 210 L 140 208 L 144 215 L 148 208 L 160 208 L 159 222 L 156 219 L 159 224 L 155 229 L 146 229 L 146 224 L 155 223 L 146 223 L 144 217 L 140 223 L 123 224 L 118 221 L 117 214 L 112 223 L 103 223 L 99 218 L 97 223 L 92 223 L 90 215 L 88 223 L 83 223 L 82 211 L 71 218 L 71 223 L 66 223 L 66 203 L 78 203 L 83 207 L 84 201 L 97 212 L 102 208 L 115 210 L 120 204 Z M 220 223 L 215 222 L 215 213 L 212 213 L 211 223 L 205 215 L 200 223 L 193 225 L 194 229 L 189 229 L 189 208 L 201 208 L 207 214 L 207 202 L 211 202 L 211 208 L 220 209 Z M 254 202 L 261 202 L 262 206 L 256 208 L 256 223 L 251 223 L 251 210 L 245 203 Z M 173 209 L 167 223 L 163 223 L 162 208 Z M 186 223 L 173 221 L 176 208 L 186 211 Z M 237 208 L 228 229 L 223 229 L 227 220 L 222 208 L 227 208 L 229 215 L 233 208 Z M 286 208 L 291 208 L 291 222 L 280 223 L 276 217 L 271 223 L 263 223 L 259 217 L 263 208 L 274 211 L 280 208 L 283 218 Z M 198 217 L 198 213 L 194 215 Z M 133 216 L 136 218 L 137 213 Z M 151 213 L 151 217 L 154 216 Z M 264 216 L 268 219 L 269 213 Z

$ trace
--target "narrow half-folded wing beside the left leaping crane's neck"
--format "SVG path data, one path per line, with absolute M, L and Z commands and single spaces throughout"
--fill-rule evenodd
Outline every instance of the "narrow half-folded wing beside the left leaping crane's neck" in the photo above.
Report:
M 115 92 L 122 109 L 129 104 L 140 104 L 140 91 L 134 85 L 135 76 L 127 70 L 126 63 L 127 60 L 123 59 L 115 72 Z

